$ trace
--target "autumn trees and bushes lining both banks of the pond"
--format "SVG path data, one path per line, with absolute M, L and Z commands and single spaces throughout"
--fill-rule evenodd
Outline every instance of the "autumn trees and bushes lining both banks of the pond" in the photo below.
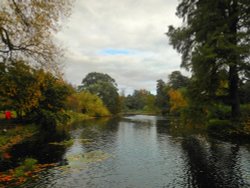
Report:
M 72 0 L 3 3 L 0 111 L 13 112 L 13 117 L 0 120 L 0 158 L 8 159 L 13 145 L 36 133 L 50 134 L 76 121 L 137 114 L 180 119 L 179 129 L 169 124 L 174 131 L 196 127 L 222 139 L 249 141 L 250 4 L 190 2 L 182 0 L 177 8 L 183 25 L 169 26 L 166 33 L 190 76 L 171 72 L 167 81 L 156 81 L 155 94 L 144 88 L 119 93 L 115 79 L 106 73 L 90 72 L 79 86 L 63 79 L 58 66 L 62 51 L 53 36 L 63 23 L 61 16 L 69 16 Z M 29 159 L 22 164 L 27 168 L 14 171 L 24 174 L 35 164 Z

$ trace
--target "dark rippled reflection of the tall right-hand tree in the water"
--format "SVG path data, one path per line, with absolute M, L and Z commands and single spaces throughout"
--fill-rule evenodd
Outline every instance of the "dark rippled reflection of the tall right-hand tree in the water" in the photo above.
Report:
M 197 187 L 242 187 L 237 171 L 238 146 L 208 142 L 204 137 L 185 138 L 182 143 L 189 165 L 190 185 Z

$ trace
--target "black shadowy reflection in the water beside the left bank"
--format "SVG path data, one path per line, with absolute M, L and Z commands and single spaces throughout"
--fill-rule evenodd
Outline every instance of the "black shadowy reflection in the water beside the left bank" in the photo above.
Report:
M 69 133 L 64 130 L 40 132 L 24 142 L 14 145 L 8 151 L 11 157 L 7 160 L 0 160 L 0 172 L 19 166 L 26 158 L 37 159 L 41 164 L 63 161 L 66 148 L 51 145 L 50 142 L 57 142 L 64 139 L 69 139 Z

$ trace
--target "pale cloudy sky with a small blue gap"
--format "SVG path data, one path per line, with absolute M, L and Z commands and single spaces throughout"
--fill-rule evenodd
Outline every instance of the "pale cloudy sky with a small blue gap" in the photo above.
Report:
M 155 93 L 156 80 L 180 68 L 164 34 L 179 25 L 178 0 L 76 0 L 56 35 L 65 54 L 65 78 L 79 85 L 89 72 L 107 73 L 119 89 Z

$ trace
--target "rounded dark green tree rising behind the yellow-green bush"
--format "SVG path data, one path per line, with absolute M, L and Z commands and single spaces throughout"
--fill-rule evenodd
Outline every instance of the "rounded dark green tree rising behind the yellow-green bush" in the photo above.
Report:
M 117 84 L 108 74 L 89 73 L 79 87 L 80 91 L 89 91 L 100 97 L 112 114 L 120 112 Z

